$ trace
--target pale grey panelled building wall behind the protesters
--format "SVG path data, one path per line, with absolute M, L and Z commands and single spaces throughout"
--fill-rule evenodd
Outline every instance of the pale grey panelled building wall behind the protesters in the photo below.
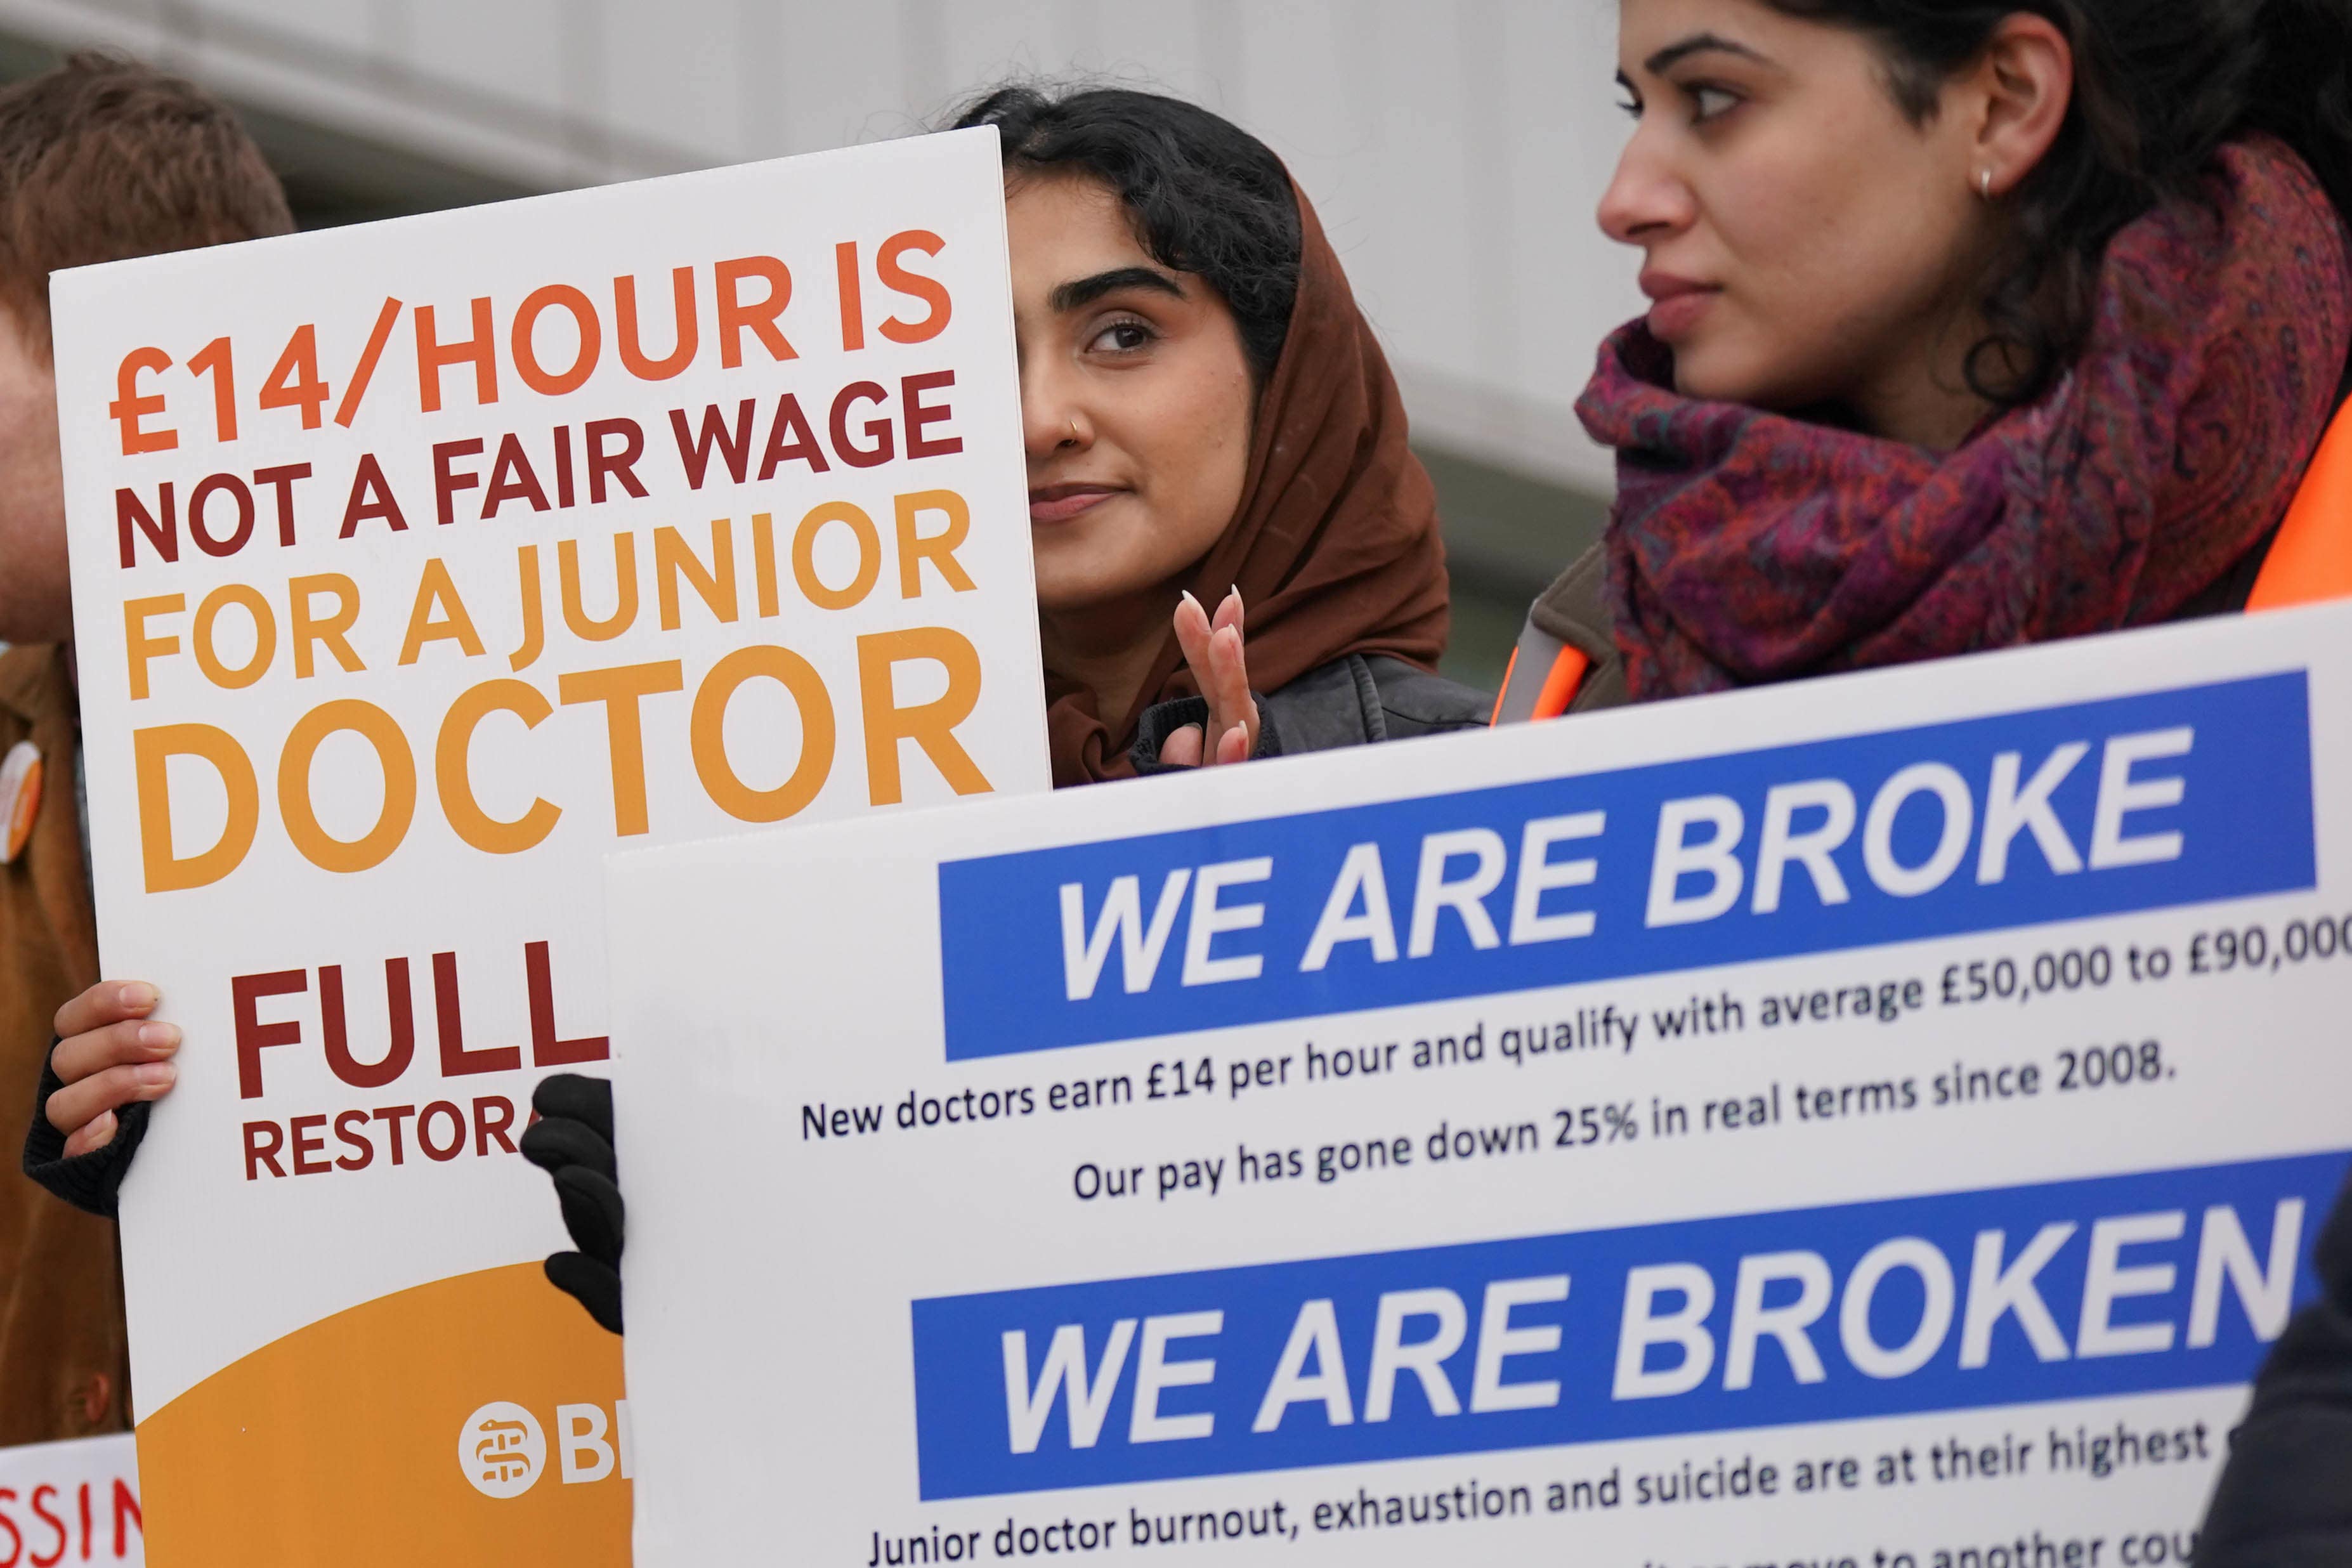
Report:
M 908 134 L 1016 71 L 1160 85 L 1289 160 L 1423 440 L 1609 484 L 1571 404 L 1639 310 L 1592 228 L 1611 0 L 0 0 L 0 28 L 548 188 Z

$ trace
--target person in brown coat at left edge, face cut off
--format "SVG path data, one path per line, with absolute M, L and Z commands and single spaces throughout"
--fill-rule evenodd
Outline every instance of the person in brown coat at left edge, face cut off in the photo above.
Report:
M 0 651 L 0 1126 L 33 1119 L 59 1011 L 99 980 L 49 273 L 292 228 L 261 150 L 188 82 L 75 54 L 0 89 L 0 646 L 14 644 Z M 111 992 L 129 1011 L 153 1006 L 143 985 Z M 115 1227 L 9 1168 L 0 1446 L 129 1420 Z

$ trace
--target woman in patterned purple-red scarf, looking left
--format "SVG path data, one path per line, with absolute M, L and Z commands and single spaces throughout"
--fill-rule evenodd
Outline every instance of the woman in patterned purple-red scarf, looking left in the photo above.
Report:
M 1653 308 L 1501 717 L 2239 609 L 2345 395 L 2347 56 L 2343 0 L 1625 0 Z

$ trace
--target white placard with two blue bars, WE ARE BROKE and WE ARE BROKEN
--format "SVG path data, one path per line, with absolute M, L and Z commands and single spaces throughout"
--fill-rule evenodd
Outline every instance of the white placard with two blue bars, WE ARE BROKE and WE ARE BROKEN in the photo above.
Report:
M 903 827 L 612 863 L 649 1561 L 2180 1561 L 2314 1288 L 2352 609 Z

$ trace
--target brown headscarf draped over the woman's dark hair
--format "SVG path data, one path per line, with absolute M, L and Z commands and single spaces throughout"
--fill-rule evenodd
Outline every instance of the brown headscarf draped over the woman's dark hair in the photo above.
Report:
M 1404 444 L 1404 402 L 1338 254 L 1298 200 L 1298 301 L 1258 393 L 1242 505 L 1192 576 L 1211 611 L 1240 588 L 1249 684 L 1277 691 L 1348 654 L 1435 668 L 1446 646 L 1437 491 Z M 1094 691 L 1047 670 L 1054 788 L 1127 778 L 1152 703 L 1200 689 L 1167 635 L 1136 705 L 1105 722 Z

